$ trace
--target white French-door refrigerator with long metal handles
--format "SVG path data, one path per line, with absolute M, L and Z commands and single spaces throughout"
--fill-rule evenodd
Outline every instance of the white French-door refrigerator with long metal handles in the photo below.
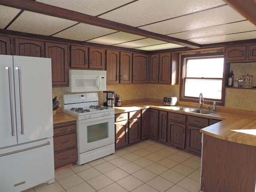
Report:
M 51 59 L 0 55 L 0 191 L 54 182 Z

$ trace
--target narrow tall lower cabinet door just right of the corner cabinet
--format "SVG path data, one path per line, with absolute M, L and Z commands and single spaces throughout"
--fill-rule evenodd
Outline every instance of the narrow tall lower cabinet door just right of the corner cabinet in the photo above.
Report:
M 159 111 L 158 140 L 166 142 L 167 139 L 167 112 Z

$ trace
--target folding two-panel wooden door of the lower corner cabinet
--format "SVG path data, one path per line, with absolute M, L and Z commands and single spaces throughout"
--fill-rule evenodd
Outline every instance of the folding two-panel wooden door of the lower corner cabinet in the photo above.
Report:
M 142 139 L 158 139 L 158 110 L 142 110 Z

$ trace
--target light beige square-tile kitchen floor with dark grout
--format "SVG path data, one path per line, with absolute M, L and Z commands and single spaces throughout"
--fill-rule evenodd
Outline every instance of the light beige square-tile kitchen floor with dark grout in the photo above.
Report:
M 200 156 L 144 140 L 55 172 L 55 182 L 26 192 L 202 192 Z

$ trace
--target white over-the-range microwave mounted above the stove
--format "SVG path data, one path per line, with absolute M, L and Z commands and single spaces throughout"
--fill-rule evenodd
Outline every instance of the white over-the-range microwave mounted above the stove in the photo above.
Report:
M 107 71 L 102 70 L 68 70 L 69 86 L 64 92 L 104 91 L 107 86 Z

